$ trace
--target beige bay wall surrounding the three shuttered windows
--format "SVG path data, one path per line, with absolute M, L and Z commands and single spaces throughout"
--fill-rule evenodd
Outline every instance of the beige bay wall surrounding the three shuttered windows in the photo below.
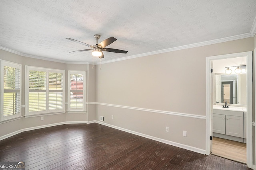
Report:
M 56 115 L 44 115 L 44 120 L 41 121 L 41 116 L 36 117 L 24 117 L 25 113 L 25 65 L 29 66 L 38 66 L 44 68 L 55 68 L 66 70 L 66 86 L 65 86 L 65 103 L 68 102 L 68 70 L 85 70 L 86 71 L 86 102 L 95 102 L 95 69 L 92 70 L 92 65 L 90 64 L 65 64 L 58 63 L 40 59 L 34 59 L 30 57 L 23 57 L 20 55 L 16 55 L 14 53 L 10 53 L 4 50 L 0 50 L 0 59 L 5 61 L 11 61 L 14 63 L 22 64 L 22 118 L 14 121 L 7 121 L 0 123 L 0 129 L 4 129 L 0 131 L 0 137 L 4 135 L 8 135 L 11 133 L 16 133 L 21 129 L 33 129 L 38 126 L 48 126 L 50 124 L 58 124 L 64 122 L 74 122 L 74 121 L 90 121 L 94 120 L 95 115 L 95 106 L 94 105 L 86 105 L 86 113 L 62 113 Z M 90 80 L 89 80 L 90 79 Z M 65 105 L 65 110 L 67 110 L 67 104 Z

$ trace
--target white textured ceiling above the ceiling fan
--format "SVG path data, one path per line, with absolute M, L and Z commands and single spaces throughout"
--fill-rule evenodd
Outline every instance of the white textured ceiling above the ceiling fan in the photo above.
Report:
M 89 49 L 108 37 L 101 62 L 202 42 L 255 35 L 255 0 L 1 0 L 0 49 L 64 63 L 92 63 Z M 218 40 L 218 41 L 217 41 Z M 99 59 L 94 58 L 98 63 Z

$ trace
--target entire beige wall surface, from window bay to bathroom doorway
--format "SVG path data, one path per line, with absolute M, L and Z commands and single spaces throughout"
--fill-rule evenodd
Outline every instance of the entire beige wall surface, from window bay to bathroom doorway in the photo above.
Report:
M 40 116 L 22 117 L 1 123 L 0 129 L 5 131 L 0 131 L 0 137 L 40 125 L 98 121 L 102 115 L 106 125 L 205 150 L 206 57 L 253 51 L 255 41 L 255 37 L 252 37 L 172 51 L 101 64 L 101 69 L 99 65 L 92 69 L 89 64 L 56 63 L 0 50 L 0 59 L 22 64 L 22 105 L 25 65 L 66 70 L 66 76 L 67 70 L 86 70 L 88 102 L 87 113 L 48 115 L 44 116 L 44 121 L 40 120 Z M 67 95 L 65 100 L 67 102 Z M 255 113 L 253 115 L 255 117 Z M 169 132 L 165 132 L 166 126 Z M 187 131 L 187 137 L 182 136 L 183 131 Z

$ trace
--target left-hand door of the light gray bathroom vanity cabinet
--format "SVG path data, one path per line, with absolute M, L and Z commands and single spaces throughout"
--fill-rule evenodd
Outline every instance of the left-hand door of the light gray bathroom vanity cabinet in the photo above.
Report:
M 225 115 L 212 114 L 212 132 L 225 134 Z

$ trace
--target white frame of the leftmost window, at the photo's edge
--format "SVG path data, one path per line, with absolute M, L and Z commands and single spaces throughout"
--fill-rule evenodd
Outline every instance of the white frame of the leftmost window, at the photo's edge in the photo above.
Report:
M 22 103 L 22 65 L 18 64 L 18 63 L 12 63 L 9 61 L 4 61 L 4 60 L 0 60 L 0 65 L 1 65 L 1 69 L 0 69 L 0 122 L 1 121 L 7 121 L 10 119 L 15 119 L 18 117 L 22 116 L 22 109 L 21 109 L 21 103 Z M 19 73 L 19 93 L 20 93 L 20 103 L 18 109 L 19 112 L 13 115 L 7 115 L 4 116 L 4 66 L 9 66 L 9 67 L 13 67 L 13 68 L 18 68 L 20 69 L 20 73 Z M 9 91 L 9 90 L 8 90 Z M 10 90 L 11 91 L 11 90 Z M 15 90 L 16 91 L 16 90 Z

